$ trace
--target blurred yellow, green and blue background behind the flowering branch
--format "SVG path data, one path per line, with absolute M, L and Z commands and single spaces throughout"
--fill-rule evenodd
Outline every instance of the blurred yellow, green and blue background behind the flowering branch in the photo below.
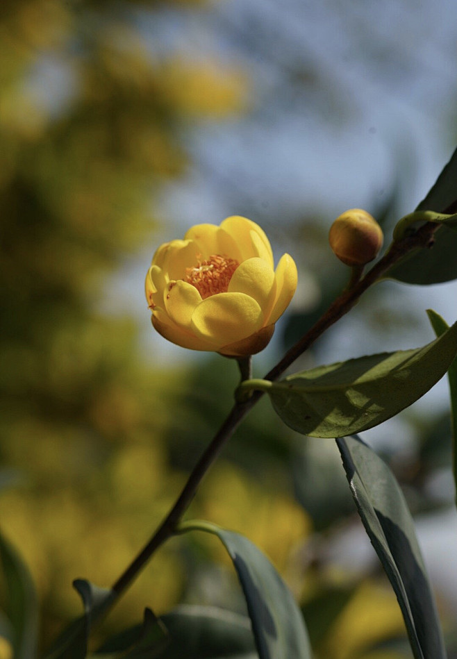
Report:
M 231 406 L 235 365 L 153 334 L 153 251 L 239 214 L 292 254 L 299 290 L 261 376 L 346 281 L 333 219 L 362 207 L 388 232 L 450 158 L 456 37 L 452 0 L 1 2 L 0 528 L 33 575 L 43 646 L 80 612 L 72 580 L 115 581 Z M 424 310 L 454 321 L 456 292 L 383 283 L 301 366 L 425 343 Z M 417 516 L 457 656 L 446 393 L 364 438 Z M 317 658 L 410 656 L 333 442 L 261 401 L 188 517 L 269 555 Z M 216 544 L 168 542 L 104 631 L 179 602 L 243 610 Z

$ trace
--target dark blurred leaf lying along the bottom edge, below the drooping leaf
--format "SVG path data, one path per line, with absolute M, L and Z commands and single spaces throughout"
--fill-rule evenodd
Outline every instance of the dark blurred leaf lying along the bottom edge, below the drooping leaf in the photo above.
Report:
M 258 659 L 249 618 L 210 606 L 180 606 L 108 640 L 94 658 Z

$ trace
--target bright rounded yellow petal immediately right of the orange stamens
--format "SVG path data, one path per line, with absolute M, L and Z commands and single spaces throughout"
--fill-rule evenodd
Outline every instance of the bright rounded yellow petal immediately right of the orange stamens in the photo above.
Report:
M 271 306 L 274 294 L 274 272 L 262 258 L 248 258 L 233 273 L 229 293 L 246 293 L 256 300 L 263 312 Z

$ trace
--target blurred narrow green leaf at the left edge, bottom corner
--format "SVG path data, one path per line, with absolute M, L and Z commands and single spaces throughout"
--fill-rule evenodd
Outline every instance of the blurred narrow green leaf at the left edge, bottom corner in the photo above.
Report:
M 6 615 L 15 659 L 37 656 L 38 600 L 22 558 L 0 535 L 0 559 L 6 585 Z

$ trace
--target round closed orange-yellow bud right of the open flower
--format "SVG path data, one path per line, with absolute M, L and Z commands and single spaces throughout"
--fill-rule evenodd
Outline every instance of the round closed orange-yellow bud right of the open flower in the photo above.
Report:
M 365 265 L 383 246 L 383 230 L 366 210 L 351 208 L 333 222 L 329 242 L 333 253 L 346 265 Z

